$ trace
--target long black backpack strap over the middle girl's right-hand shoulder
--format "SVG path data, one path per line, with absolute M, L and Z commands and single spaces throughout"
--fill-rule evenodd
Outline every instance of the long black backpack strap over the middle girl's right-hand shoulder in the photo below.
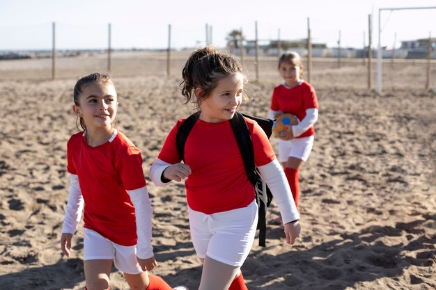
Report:
M 247 116 L 250 118 L 251 116 Z M 254 147 L 253 140 L 251 140 L 250 131 L 247 122 L 244 120 L 244 115 L 236 112 L 233 118 L 230 120 L 233 133 L 235 134 L 236 141 L 242 155 L 242 160 L 244 161 L 245 171 L 247 172 L 247 177 L 251 184 L 254 186 L 256 191 L 256 202 L 258 204 L 259 215 L 258 215 L 258 226 L 259 229 L 259 245 L 265 246 L 266 240 L 266 207 L 267 207 L 267 197 L 266 197 L 266 184 L 261 181 L 262 188 L 258 188 L 260 173 L 257 171 L 254 165 Z M 265 195 L 265 196 L 263 196 Z

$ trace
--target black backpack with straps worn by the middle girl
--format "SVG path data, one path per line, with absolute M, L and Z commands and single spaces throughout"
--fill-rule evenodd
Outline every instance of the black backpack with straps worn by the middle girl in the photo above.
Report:
M 194 127 L 194 124 L 198 119 L 198 116 L 199 112 L 190 115 L 184 122 L 182 122 L 180 128 L 178 129 L 176 146 L 180 159 L 183 161 L 185 161 L 185 143 L 189 132 L 191 131 L 192 127 Z M 274 121 L 238 112 L 236 112 L 233 118 L 230 120 L 233 133 L 238 141 L 242 159 L 244 160 L 245 171 L 247 172 L 249 181 L 251 184 L 253 184 L 254 190 L 256 191 L 256 202 L 259 209 L 259 219 L 257 225 L 257 229 L 259 229 L 259 245 L 264 247 L 266 239 L 266 208 L 271 204 L 272 193 L 270 188 L 268 188 L 260 176 L 260 172 L 256 166 L 254 166 L 253 142 L 251 141 L 250 132 L 244 117 L 255 120 L 263 129 L 263 131 L 265 131 L 265 134 L 268 138 L 270 138 L 272 134 L 272 125 L 274 124 Z

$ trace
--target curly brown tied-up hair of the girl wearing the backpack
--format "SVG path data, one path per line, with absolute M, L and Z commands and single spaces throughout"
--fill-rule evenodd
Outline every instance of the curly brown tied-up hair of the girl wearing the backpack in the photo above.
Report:
M 186 103 L 192 101 L 198 108 L 201 101 L 208 98 L 210 92 L 217 87 L 219 80 L 238 73 L 242 74 L 244 83 L 247 83 L 247 74 L 239 58 L 219 53 L 211 46 L 196 49 L 182 70 L 182 95 L 186 97 Z M 201 95 L 195 95 L 196 88 L 201 88 Z M 247 98 L 247 95 L 243 93 L 243 97 Z

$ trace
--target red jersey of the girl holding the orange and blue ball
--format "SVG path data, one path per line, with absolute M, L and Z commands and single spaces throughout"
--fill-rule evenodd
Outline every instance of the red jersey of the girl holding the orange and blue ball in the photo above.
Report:
M 282 111 L 296 115 L 299 120 L 306 117 L 308 108 L 319 108 L 316 92 L 310 83 L 303 81 L 293 88 L 286 88 L 281 84 L 272 92 L 271 110 Z M 307 131 L 295 138 L 315 135 L 315 129 L 310 127 Z

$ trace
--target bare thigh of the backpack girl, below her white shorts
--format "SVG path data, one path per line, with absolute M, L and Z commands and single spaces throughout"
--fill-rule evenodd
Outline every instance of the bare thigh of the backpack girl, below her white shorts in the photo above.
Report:
M 198 290 L 226 290 L 230 289 L 229 287 L 231 287 L 231 284 L 233 287 L 237 287 L 237 284 L 240 284 L 240 281 L 233 282 L 233 280 L 241 276 L 240 273 L 240 267 L 224 264 L 206 256 Z M 231 289 L 236 290 L 247 288 L 238 287 Z

